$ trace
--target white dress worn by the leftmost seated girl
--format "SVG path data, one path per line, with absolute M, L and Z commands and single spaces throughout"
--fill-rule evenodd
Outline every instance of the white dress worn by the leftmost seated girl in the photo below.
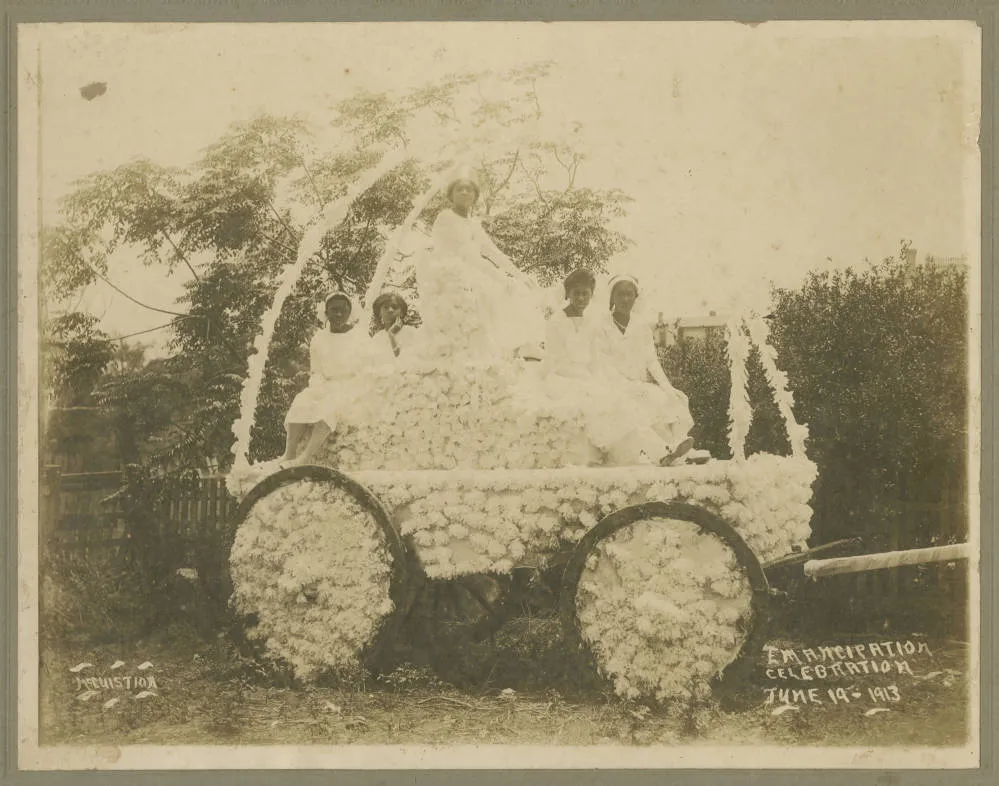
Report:
M 371 359 L 366 338 L 356 328 L 345 333 L 316 331 L 309 342 L 309 386 L 295 396 L 285 426 L 325 423 L 336 430 L 340 413 L 363 394 L 357 374 Z

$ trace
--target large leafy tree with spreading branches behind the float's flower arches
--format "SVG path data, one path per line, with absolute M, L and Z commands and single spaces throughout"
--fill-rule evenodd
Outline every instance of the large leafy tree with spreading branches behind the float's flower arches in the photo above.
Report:
M 335 150 L 317 150 L 300 120 L 265 115 L 231 128 L 190 167 L 138 160 L 78 184 L 63 205 L 64 222 L 45 235 L 48 292 L 65 299 L 98 279 L 116 286 L 109 259 L 122 252 L 187 277 L 176 309 L 156 309 L 172 317 L 165 327 L 172 356 L 113 375 L 99 398 L 147 435 L 140 452 L 151 448 L 152 458 L 170 467 L 226 466 L 247 358 L 278 275 L 296 258 L 310 217 L 342 197 L 386 147 L 401 146 L 412 156 L 326 232 L 279 315 L 251 453 L 280 451 L 284 412 L 306 383 L 316 300 L 331 286 L 364 294 L 387 238 L 440 169 L 441 161 L 417 149 L 428 129 L 430 138 L 452 140 L 447 157 L 481 148 L 487 227 L 525 269 L 542 281 L 575 266 L 602 270 L 627 243 L 609 227 L 625 196 L 577 188 L 584 158 L 562 138 L 525 132 L 512 150 L 491 152 L 497 132 L 513 139 L 541 120 L 537 86 L 547 69 L 455 75 L 403 95 L 359 93 L 335 107 Z M 506 92 L 486 96 L 481 88 L 489 80 Z M 471 136 L 454 142 L 454 129 L 469 128 Z M 561 182 L 545 180 L 546 169 Z M 417 235 L 441 206 L 438 198 L 422 212 Z M 394 283 L 406 283 L 404 257 L 395 260 L 402 270 Z

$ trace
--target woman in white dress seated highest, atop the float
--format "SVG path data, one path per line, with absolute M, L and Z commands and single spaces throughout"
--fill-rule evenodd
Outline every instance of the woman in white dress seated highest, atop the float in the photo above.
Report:
M 433 357 L 488 364 L 509 359 L 543 330 L 536 284 L 472 218 L 479 186 L 461 170 L 434 221 L 433 250 L 418 264 L 421 347 Z

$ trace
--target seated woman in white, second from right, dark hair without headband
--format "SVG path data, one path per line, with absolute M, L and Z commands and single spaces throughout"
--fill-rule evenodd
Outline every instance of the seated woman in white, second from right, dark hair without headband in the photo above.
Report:
M 622 382 L 601 354 L 599 324 L 585 316 L 595 288 L 587 270 L 570 273 L 564 282 L 569 304 L 548 321 L 541 375 L 552 399 L 578 407 L 586 445 L 570 463 L 599 462 L 621 466 L 661 463 L 669 454 L 663 440 L 642 422 L 641 412 L 618 386 Z

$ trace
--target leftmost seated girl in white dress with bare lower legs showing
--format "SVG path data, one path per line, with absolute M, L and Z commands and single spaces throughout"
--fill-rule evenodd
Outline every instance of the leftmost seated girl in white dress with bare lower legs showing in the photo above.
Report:
M 344 292 L 334 292 L 323 304 L 327 330 L 317 330 L 309 344 L 309 386 L 292 401 L 284 424 L 284 455 L 279 464 L 304 464 L 312 459 L 337 427 L 338 408 L 357 395 L 349 384 L 367 357 L 352 331 L 353 303 Z M 307 436 L 306 436 L 307 435 Z M 298 447 L 302 442 L 301 451 Z

